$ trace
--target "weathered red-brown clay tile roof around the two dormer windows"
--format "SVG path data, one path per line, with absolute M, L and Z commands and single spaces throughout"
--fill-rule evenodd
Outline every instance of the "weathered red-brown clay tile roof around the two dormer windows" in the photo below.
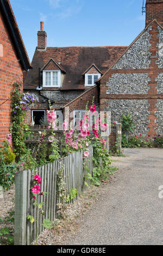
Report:
M 85 70 L 95 63 L 94 65 L 104 74 L 126 48 L 127 46 L 47 47 L 46 51 L 37 51 L 36 48 L 32 60 L 33 69 L 28 71 L 24 89 L 36 89 L 39 85 L 39 68 L 42 69 L 49 59 L 53 59 L 66 71 L 60 89 L 84 90 L 82 74 Z

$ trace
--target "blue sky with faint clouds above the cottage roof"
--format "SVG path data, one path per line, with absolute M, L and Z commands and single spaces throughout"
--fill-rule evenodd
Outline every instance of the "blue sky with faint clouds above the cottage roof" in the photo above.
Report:
M 44 21 L 47 46 L 124 46 L 145 28 L 142 0 L 10 0 L 30 61 Z

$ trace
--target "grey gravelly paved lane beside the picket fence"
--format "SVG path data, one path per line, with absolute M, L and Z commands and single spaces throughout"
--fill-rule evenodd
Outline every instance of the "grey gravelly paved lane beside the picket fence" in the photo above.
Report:
M 114 157 L 116 181 L 104 189 L 64 245 L 162 245 L 163 149 L 125 149 Z M 163 193 L 162 193 L 163 194 Z

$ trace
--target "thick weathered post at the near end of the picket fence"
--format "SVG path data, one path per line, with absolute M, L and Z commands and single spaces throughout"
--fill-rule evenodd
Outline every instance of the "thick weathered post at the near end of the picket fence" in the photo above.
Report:
M 15 235 L 14 245 L 26 245 L 27 170 L 15 178 Z

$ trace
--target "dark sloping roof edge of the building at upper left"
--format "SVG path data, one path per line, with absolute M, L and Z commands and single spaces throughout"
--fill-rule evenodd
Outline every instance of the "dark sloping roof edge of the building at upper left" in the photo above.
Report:
M 30 64 L 30 60 L 26 51 L 26 47 L 24 46 L 21 33 L 18 29 L 15 15 L 12 10 L 10 1 L 0 0 L 0 9 L 5 21 L 5 25 L 9 29 L 9 33 L 10 33 L 12 42 L 15 46 L 18 57 L 20 58 L 20 62 L 22 64 L 23 70 L 27 71 L 28 69 L 32 69 L 32 66 Z

